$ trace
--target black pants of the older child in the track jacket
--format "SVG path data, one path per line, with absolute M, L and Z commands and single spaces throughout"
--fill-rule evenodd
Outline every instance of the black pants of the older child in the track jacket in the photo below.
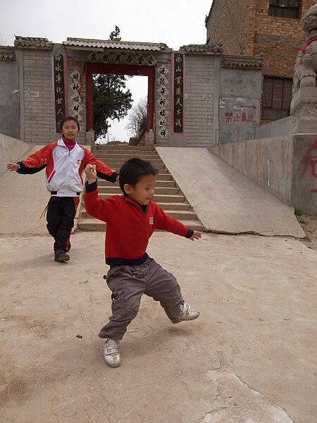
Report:
M 51 197 L 47 205 L 46 228 L 54 238 L 54 250 L 70 250 L 70 233 L 79 197 Z

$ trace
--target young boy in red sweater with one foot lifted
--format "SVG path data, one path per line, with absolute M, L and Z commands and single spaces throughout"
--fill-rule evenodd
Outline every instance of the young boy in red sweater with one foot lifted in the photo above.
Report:
M 112 316 L 101 328 L 99 338 L 106 338 L 106 364 L 118 367 L 121 364 L 119 341 L 137 316 L 143 294 L 159 301 L 173 323 L 199 317 L 199 312 L 182 299 L 175 277 L 149 257 L 146 250 L 155 229 L 190 240 L 201 238 L 201 233 L 165 214 L 152 200 L 157 170 L 149 161 L 126 161 L 119 173 L 123 195 L 112 195 L 106 200 L 98 196 L 95 166 L 88 164 L 85 173 L 86 212 L 106 222 L 105 255 L 106 264 L 110 266 L 106 283 L 112 292 Z

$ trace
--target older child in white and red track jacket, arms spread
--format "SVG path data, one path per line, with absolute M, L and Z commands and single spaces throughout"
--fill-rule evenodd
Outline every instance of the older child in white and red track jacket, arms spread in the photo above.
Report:
M 70 233 L 83 190 L 82 172 L 85 166 L 95 164 L 99 178 L 113 183 L 118 178 L 116 171 L 96 159 L 87 148 L 77 144 L 79 130 L 78 121 L 73 116 L 66 116 L 61 121 L 60 140 L 45 145 L 26 160 L 6 165 L 11 172 L 30 175 L 46 168 L 46 188 L 51 192 L 46 228 L 54 238 L 55 262 L 68 262 L 70 259 L 67 254 L 70 250 Z

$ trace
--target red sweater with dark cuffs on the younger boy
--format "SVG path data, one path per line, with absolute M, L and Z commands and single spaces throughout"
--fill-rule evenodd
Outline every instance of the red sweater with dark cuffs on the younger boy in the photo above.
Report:
M 113 259 L 123 259 L 124 264 L 124 259 L 133 261 L 144 257 L 149 238 L 155 229 L 180 236 L 187 235 L 189 229 L 180 221 L 165 214 L 153 200 L 149 202 L 144 213 L 139 204 L 124 195 L 101 199 L 93 185 L 97 187 L 97 183 L 86 185 L 85 208 L 88 214 L 107 224 L 105 245 L 107 264 L 120 263 L 120 260 Z

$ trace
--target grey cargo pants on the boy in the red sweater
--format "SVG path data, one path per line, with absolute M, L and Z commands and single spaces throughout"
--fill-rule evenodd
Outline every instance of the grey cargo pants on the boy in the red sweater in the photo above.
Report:
M 159 301 L 173 323 L 180 321 L 180 286 L 175 276 L 151 257 L 139 266 L 113 266 L 108 271 L 106 283 L 112 292 L 112 316 L 99 332 L 99 338 L 120 341 L 137 316 L 143 294 Z

